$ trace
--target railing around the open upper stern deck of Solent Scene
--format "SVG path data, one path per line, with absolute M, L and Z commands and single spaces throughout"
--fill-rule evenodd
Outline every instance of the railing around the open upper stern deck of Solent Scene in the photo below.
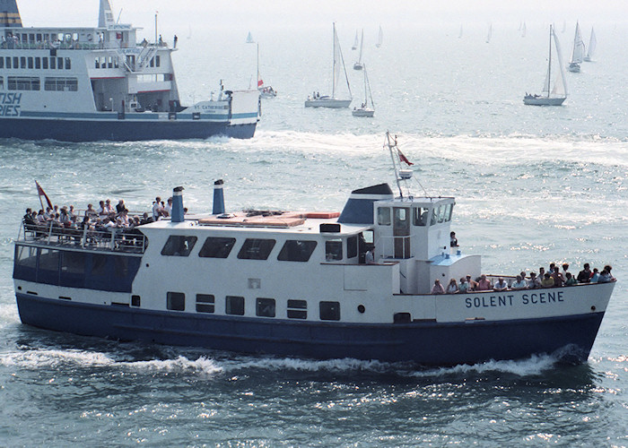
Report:
M 133 252 L 144 254 L 148 240 L 135 228 L 61 228 L 53 223 L 46 226 L 26 224 L 22 221 L 18 241 L 50 246 L 74 246 L 85 249 Z

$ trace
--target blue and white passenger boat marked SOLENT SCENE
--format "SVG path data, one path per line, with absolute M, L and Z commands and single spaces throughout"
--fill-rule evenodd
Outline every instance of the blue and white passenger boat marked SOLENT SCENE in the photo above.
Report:
M 357 189 L 342 212 L 226 213 L 216 181 L 212 214 L 184 214 L 177 187 L 171 219 L 132 233 L 22 226 L 13 270 L 22 323 L 424 366 L 586 360 L 615 282 L 432 294 L 435 280 L 480 276 L 481 259 L 451 251 L 454 198 L 404 194 L 412 171 L 396 138 L 385 146 L 399 195 L 388 184 Z

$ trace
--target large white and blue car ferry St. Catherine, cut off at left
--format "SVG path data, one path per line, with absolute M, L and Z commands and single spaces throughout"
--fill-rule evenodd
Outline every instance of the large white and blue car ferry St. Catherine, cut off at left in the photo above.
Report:
M 97 28 L 25 28 L 15 0 L 0 12 L 0 137 L 100 140 L 251 138 L 257 90 L 224 90 L 186 107 L 169 47 L 137 41 L 100 0 Z M 209 97 L 209 95 L 208 95 Z

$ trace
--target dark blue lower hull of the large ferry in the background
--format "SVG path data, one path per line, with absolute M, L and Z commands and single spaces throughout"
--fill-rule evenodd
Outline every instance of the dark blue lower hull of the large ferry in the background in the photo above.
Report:
M 146 140 L 206 139 L 216 135 L 249 139 L 256 123 L 226 125 L 204 120 L 64 120 L 0 119 L 0 138 L 57 140 L 59 142 L 134 142 Z

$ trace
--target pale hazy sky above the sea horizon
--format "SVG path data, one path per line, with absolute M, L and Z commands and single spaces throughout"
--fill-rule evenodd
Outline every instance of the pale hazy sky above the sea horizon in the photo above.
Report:
M 385 26 L 411 27 L 440 23 L 486 24 L 487 22 L 586 22 L 588 24 L 628 22 L 628 1 L 526 0 L 513 4 L 503 0 L 321 0 L 293 2 L 278 0 L 262 3 L 253 0 L 215 2 L 206 0 L 111 0 L 115 18 L 144 30 L 154 29 L 155 12 L 159 28 L 170 33 L 188 28 L 217 30 L 311 28 L 329 22 L 355 24 L 381 23 Z M 56 0 L 55 2 L 18 1 L 24 26 L 96 26 L 99 1 Z

